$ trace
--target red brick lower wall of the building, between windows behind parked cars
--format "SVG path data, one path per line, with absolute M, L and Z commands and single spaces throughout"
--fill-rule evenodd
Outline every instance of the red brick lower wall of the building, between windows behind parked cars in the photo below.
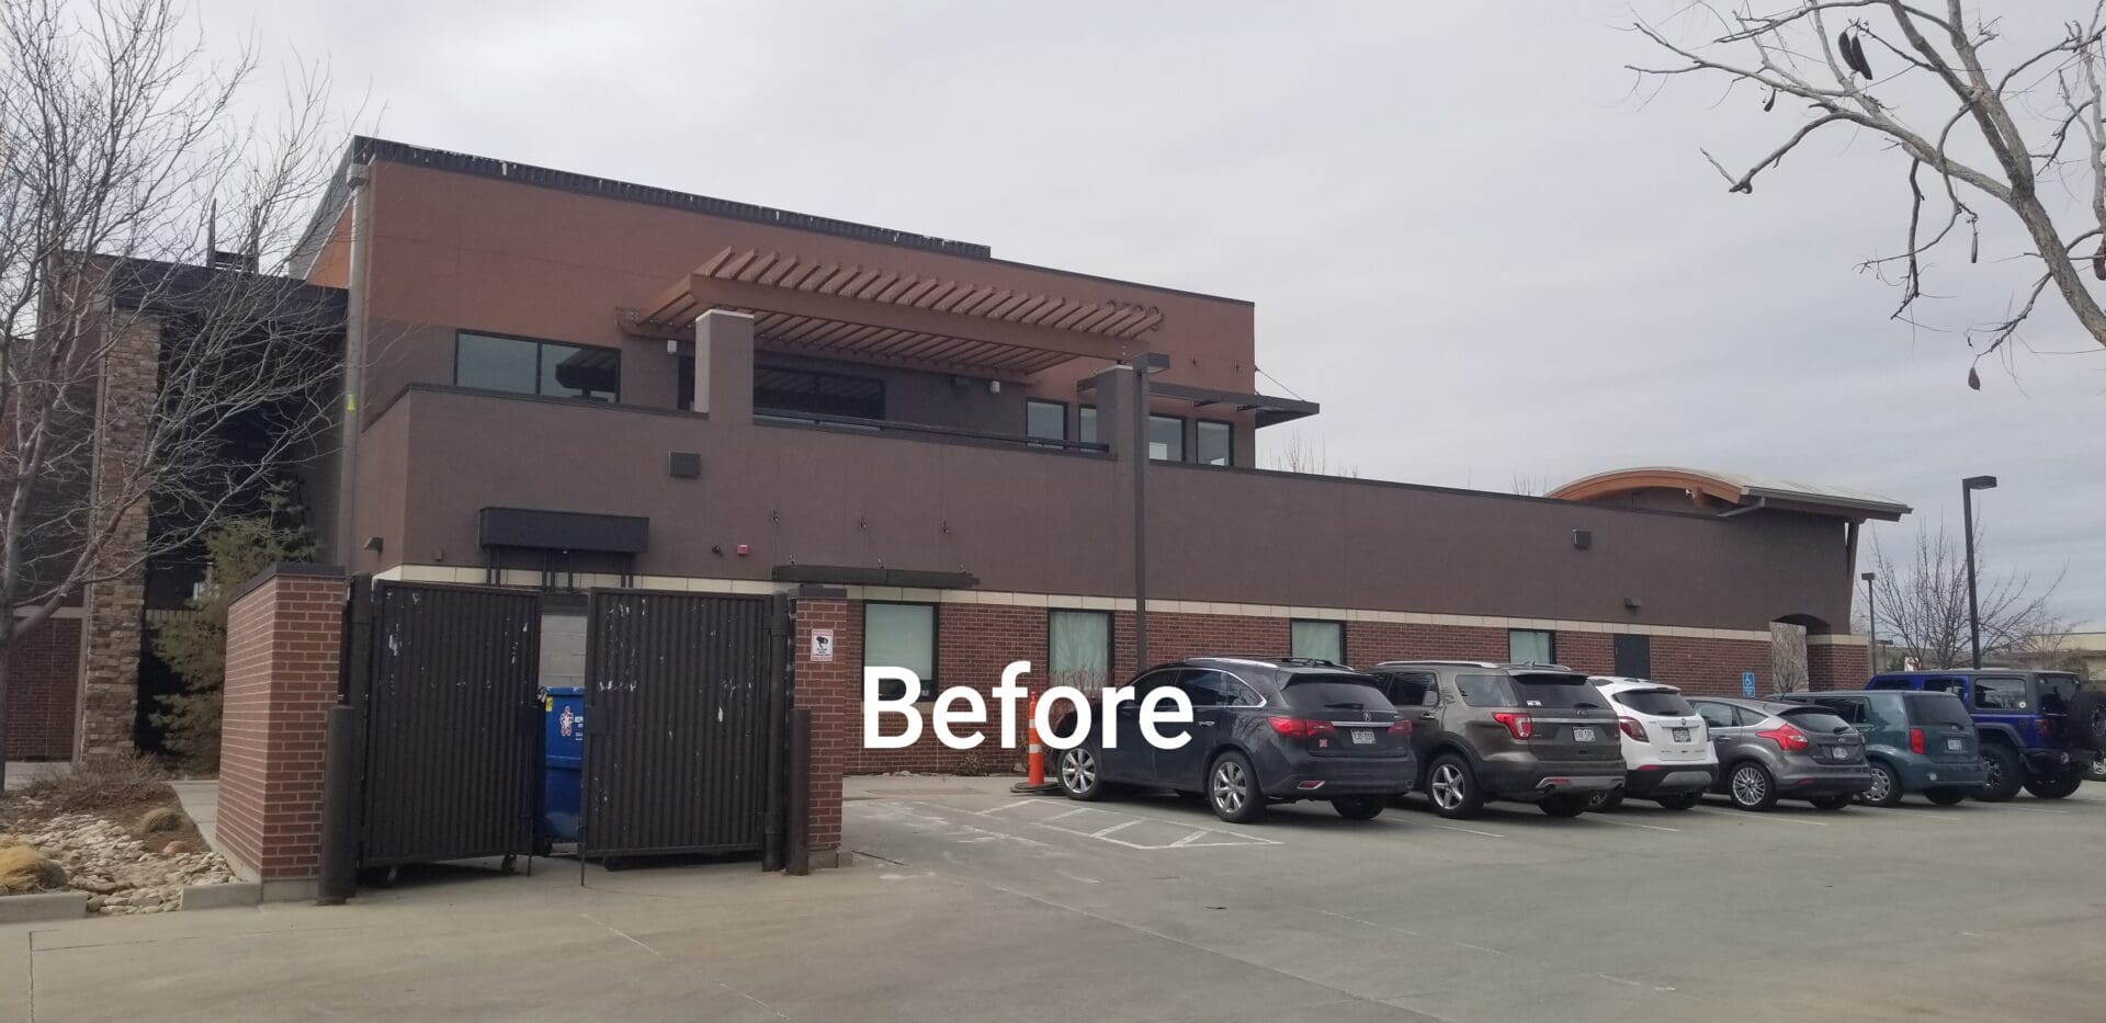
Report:
M 988 695 L 988 739 L 971 751 L 946 749 L 935 739 L 931 716 L 935 705 L 922 703 L 922 735 L 906 749 L 866 749 L 861 720 L 861 602 L 842 602 L 834 625 L 834 676 L 847 686 L 845 707 L 845 770 L 849 775 L 882 775 L 914 770 L 931 775 L 1009 773 L 1021 770 L 1024 751 L 998 745 L 998 707 L 992 699 L 1002 667 L 1015 659 L 1032 661 L 1024 686 L 1042 690 L 1047 682 L 1047 610 L 1002 604 L 939 604 L 937 606 L 937 682 L 969 684 Z M 802 621 L 800 621 L 802 627 Z M 1253 615 L 1148 615 L 1148 661 L 1165 663 L 1203 655 L 1285 655 L 1289 653 L 1291 619 Z M 800 636 L 800 642 L 804 638 Z M 800 646 L 802 650 L 804 646 Z M 1756 693 L 1769 693 L 1771 650 L 1767 640 L 1700 640 L 1685 636 L 1653 636 L 1653 678 L 1687 693 L 1740 695 L 1740 674 L 1754 671 Z M 1508 636 L 1499 627 L 1470 625 L 1405 625 L 1386 621 L 1348 621 L 1346 659 L 1354 665 L 1405 659 L 1504 661 Z M 1558 631 L 1561 663 L 1590 674 L 1615 667 L 1613 638 L 1605 631 Z M 1133 665 L 1133 615 L 1112 617 L 1112 676 L 1129 680 Z M 1820 676 L 1817 676 L 1820 678 Z M 1860 678 L 1860 684 L 1864 680 Z M 802 676 L 798 690 L 804 690 Z M 802 697 L 800 697 L 802 699 Z M 897 716 L 880 720 L 885 730 L 899 728 Z M 817 728 L 817 724 L 815 724 Z

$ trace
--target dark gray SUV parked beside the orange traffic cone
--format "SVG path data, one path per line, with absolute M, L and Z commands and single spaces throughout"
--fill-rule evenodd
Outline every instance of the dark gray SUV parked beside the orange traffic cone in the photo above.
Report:
M 1141 733 L 1139 707 L 1160 686 L 1192 697 L 1190 726 L 1160 726 L 1171 739 L 1190 735 L 1179 749 L 1156 749 Z M 1070 800 L 1097 800 L 1118 783 L 1205 796 L 1215 817 L 1234 823 L 1297 800 L 1331 800 L 1342 817 L 1365 821 L 1409 791 L 1417 770 L 1411 726 L 1375 680 L 1329 661 L 1192 657 L 1135 676 L 1133 697 L 1059 754 Z M 1106 728 L 1116 735 L 1110 747 Z

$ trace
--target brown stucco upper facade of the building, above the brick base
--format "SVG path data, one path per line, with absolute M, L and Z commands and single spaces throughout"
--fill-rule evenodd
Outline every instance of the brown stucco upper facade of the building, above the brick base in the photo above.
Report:
M 371 160 L 366 276 L 350 280 L 339 204 L 310 282 L 350 288 L 373 345 L 354 526 L 379 549 L 352 551 L 356 570 L 903 573 L 1131 596 L 1120 362 L 1165 354 L 1152 598 L 1849 621 L 1851 509 L 1613 507 L 1255 469 L 1255 432 L 1314 406 L 1255 396 L 1245 301 L 394 143 L 354 156 Z M 541 522 L 516 516 L 537 512 L 607 518 L 577 520 L 573 539 L 556 528 L 548 543 L 577 545 L 560 554 L 516 543 Z M 600 526 L 640 539 L 602 543 Z

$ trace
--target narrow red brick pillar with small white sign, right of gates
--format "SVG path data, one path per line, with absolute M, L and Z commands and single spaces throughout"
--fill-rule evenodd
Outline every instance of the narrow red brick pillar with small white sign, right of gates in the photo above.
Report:
M 840 777 L 851 743 L 861 743 L 857 703 L 863 688 L 863 636 L 857 604 L 840 589 L 807 589 L 796 615 L 796 707 L 811 711 L 811 863 L 845 865 L 840 850 Z M 830 634 L 830 659 L 815 659 L 813 636 Z

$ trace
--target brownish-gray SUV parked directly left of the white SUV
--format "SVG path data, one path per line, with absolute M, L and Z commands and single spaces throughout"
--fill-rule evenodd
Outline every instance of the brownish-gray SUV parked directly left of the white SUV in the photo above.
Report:
M 1584 671 L 1491 661 L 1384 661 L 1369 669 L 1411 724 L 1417 789 L 1441 817 L 1485 800 L 1533 802 L 1580 817 L 1624 785 L 1615 709 Z

